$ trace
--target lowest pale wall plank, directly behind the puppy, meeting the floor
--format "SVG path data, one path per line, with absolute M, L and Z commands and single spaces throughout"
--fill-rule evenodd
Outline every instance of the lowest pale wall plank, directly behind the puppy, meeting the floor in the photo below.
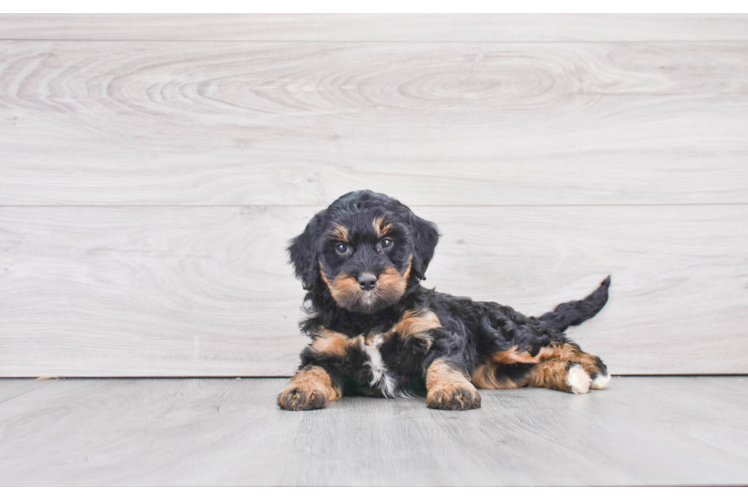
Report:
M 285 246 L 322 207 L 0 208 L 0 376 L 290 375 Z M 538 315 L 607 274 L 571 336 L 624 373 L 748 372 L 748 206 L 416 207 L 424 284 Z

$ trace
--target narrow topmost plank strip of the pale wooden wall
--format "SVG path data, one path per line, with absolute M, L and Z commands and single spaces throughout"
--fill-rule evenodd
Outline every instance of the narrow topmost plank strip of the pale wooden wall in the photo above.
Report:
M 0 39 L 745 40 L 744 14 L 3 14 Z

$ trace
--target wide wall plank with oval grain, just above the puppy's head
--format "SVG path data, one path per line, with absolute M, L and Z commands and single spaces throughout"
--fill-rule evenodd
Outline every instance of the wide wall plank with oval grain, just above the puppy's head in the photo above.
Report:
M 746 42 L 0 42 L 0 204 L 744 203 L 746 82 Z

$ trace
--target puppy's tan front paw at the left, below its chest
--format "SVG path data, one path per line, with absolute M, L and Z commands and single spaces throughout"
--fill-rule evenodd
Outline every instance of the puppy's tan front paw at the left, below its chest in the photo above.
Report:
M 307 365 L 296 372 L 278 394 L 278 406 L 284 410 L 317 410 L 342 396 L 330 375 L 321 366 Z

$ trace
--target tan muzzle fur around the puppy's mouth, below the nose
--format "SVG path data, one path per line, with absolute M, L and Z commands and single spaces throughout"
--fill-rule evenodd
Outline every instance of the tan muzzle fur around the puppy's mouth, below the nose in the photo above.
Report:
M 371 290 L 362 289 L 353 276 L 338 275 L 331 281 L 321 268 L 320 274 L 339 307 L 371 314 L 397 303 L 405 295 L 410 266 L 402 274 L 392 267 L 386 269 L 378 276 L 377 285 Z

